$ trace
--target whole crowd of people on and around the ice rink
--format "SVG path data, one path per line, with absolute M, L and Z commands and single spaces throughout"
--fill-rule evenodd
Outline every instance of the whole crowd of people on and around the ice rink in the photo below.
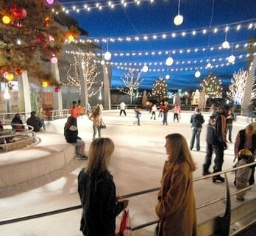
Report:
M 120 104 L 120 113 L 127 115 L 124 102 Z M 151 119 L 163 118 L 163 125 L 167 125 L 169 105 L 167 102 L 156 107 L 151 104 L 149 108 Z M 82 112 L 77 101 L 73 101 L 70 116 L 64 126 L 64 136 L 67 143 L 75 146 L 77 157 L 88 160 L 85 168 L 79 172 L 78 193 L 82 204 L 82 216 L 80 230 L 83 235 L 115 235 L 115 218 L 128 205 L 127 199 L 116 196 L 115 183 L 110 174 L 109 165 L 115 145 L 113 140 L 102 137 L 102 104 L 96 104 L 90 111 Z M 174 113 L 173 121 L 179 122 L 181 108 L 174 104 L 171 109 Z M 159 114 L 157 115 L 157 112 Z M 77 118 L 80 115 L 88 115 L 92 121 L 93 137 L 85 155 L 85 141 L 79 137 Z M 140 125 L 141 111 L 135 109 L 138 125 Z M 43 125 L 46 118 L 43 108 L 39 112 L 32 111 L 26 124 L 33 127 L 35 132 L 45 130 Z M 224 163 L 224 150 L 227 149 L 227 140 L 232 143 L 232 124 L 235 121 L 230 107 L 212 104 L 210 118 L 205 121 L 202 109 L 195 107 L 191 114 L 191 140 L 187 143 L 185 137 L 179 133 L 171 133 L 165 137 L 167 160 L 163 165 L 163 174 L 160 179 L 160 191 L 157 193 L 156 215 L 159 218 L 158 235 L 196 236 L 196 203 L 193 190 L 193 172 L 196 165 L 193 162 L 191 151 L 196 145 L 196 151 L 200 151 L 200 140 L 203 124 L 207 122 L 206 156 L 202 166 L 202 175 L 212 175 L 213 182 L 225 182 L 222 171 Z M 24 129 L 20 114 L 15 114 L 12 120 L 13 129 Z M 213 154 L 213 173 L 210 171 Z M 256 127 L 247 125 L 239 130 L 235 136 L 234 159 L 235 167 L 240 167 L 255 162 L 256 157 Z M 239 168 L 235 171 L 234 184 L 238 190 L 236 199 L 244 201 L 248 185 L 255 183 L 255 165 Z

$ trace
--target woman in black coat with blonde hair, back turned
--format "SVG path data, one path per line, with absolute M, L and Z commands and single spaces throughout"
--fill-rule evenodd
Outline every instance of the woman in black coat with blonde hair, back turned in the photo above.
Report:
M 96 138 L 90 144 L 88 167 L 79 173 L 83 235 L 115 236 L 115 218 L 127 207 L 128 200 L 116 196 L 113 176 L 107 170 L 113 151 L 110 138 Z

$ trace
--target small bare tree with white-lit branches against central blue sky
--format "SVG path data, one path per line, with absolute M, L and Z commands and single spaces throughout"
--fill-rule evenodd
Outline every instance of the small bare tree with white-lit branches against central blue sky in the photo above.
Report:
M 135 70 L 129 69 L 127 74 L 124 73 L 124 76 L 120 79 L 124 82 L 124 88 L 117 87 L 117 89 L 122 93 L 129 95 L 129 101 L 132 104 L 132 101 L 136 96 L 135 91 L 138 90 L 144 80 L 141 78 L 141 72 L 136 73 Z

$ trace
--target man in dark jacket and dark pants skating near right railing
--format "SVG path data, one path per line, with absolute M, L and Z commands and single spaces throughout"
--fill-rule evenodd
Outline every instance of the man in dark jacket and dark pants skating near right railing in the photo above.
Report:
M 227 149 L 226 143 L 226 107 L 218 107 L 216 112 L 210 116 L 209 124 L 207 125 L 207 154 L 205 164 L 203 165 L 203 175 L 210 174 L 209 168 L 212 161 L 213 151 L 216 155 L 214 159 L 213 173 L 222 171 L 224 162 L 224 150 Z M 213 182 L 224 182 L 225 179 L 220 175 L 213 176 Z

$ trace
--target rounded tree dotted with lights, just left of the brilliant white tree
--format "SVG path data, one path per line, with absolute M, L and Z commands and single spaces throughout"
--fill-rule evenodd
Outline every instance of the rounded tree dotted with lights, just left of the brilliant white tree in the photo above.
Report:
M 220 98 L 222 95 L 221 79 L 218 79 L 216 74 L 210 73 L 200 84 L 202 90 L 205 91 L 205 96 L 208 98 Z

